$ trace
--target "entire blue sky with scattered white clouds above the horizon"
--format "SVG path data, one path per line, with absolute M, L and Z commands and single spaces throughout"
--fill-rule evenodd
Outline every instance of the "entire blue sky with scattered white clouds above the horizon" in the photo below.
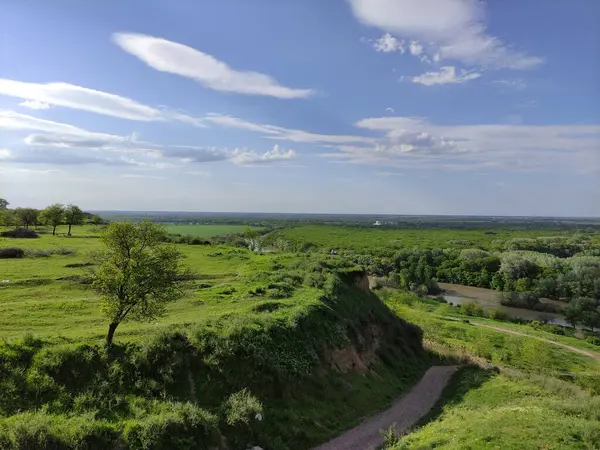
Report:
M 0 0 L 0 196 L 600 216 L 596 0 Z

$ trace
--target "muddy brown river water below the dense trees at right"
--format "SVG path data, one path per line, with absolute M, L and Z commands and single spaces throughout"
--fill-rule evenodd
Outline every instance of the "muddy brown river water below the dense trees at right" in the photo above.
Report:
M 445 291 L 444 299 L 451 305 L 462 305 L 463 303 L 475 302 L 484 310 L 502 311 L 510 317 L 519 317 L 524 320 L 540 320 L 551 318 L 551 323 L 561 326 L 569 326 L 562 314 L 532 311 L 530 309 L 513 308 L 500 304 L 500 293 L 492 289 L 463 286 L 461 284 L 439 283 L 440 288 Z

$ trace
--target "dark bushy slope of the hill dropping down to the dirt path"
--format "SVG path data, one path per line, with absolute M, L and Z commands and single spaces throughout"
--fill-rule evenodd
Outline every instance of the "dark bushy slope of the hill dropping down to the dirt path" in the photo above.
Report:
M 309 448 L 424 373 L 420 329 L 363 272 L 290 261 L 238 280 L 254 292 L 246 313 L 111 350 L 2 344 L 0 448 Z

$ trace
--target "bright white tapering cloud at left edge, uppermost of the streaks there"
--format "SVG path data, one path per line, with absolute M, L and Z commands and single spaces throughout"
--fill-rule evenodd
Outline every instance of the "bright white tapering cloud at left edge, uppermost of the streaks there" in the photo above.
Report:
M 175 111 L 152 108 L 120 95 L 97 91 L 69 83 L 27 83 L 0 79 L 0 94 L 22 98 L 21 103 L 33 109 L 45 109 L 43 105 L 89 111 L 121 119 L 145 122 L 179 121 L 203 126 L 202 121 Z

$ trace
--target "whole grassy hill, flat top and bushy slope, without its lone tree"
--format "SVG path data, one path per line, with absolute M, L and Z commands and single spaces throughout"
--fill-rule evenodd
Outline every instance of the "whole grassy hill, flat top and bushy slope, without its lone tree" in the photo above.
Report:
M 339 258 L 192 245 L 186 298 L 107 350 L 92 231 L 0 242 L 0 448 L 309 448 L 434 358 Z

